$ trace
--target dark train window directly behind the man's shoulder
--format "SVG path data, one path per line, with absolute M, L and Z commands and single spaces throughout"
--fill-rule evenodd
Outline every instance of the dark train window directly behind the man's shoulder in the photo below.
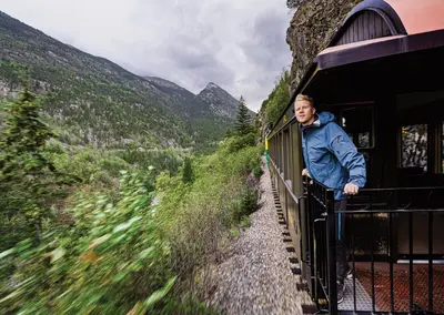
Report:
M 341 125 L 357 149 L 374 148 L 373 108 L 351 108 L 341 111 Z

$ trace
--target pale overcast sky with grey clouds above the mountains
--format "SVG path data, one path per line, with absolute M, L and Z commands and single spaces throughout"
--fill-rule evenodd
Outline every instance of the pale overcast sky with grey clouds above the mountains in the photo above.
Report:
M 283 69 L 285 0 L 0 0 L 0 10 L 85 52 L 199 93 L 214 82 L 258 111 Z

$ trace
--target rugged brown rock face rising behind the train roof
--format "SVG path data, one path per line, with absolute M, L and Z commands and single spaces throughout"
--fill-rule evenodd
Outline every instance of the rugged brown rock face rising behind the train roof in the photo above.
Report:
M 330 42 L 344 18 L 361 0 L 305 0 L 296 3 L 296 12 L 286 31 L 293 53 L 291 92 L 316 54 Z

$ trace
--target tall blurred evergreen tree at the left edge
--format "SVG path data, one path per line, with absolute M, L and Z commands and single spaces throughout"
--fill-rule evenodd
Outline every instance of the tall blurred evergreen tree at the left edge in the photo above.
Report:
M 39 120 L 39 109 L 27 82 L 7 106 L 7 128 L 0 134 L 0 210 L 8 216 L 24 214 L 40 238 L 42 219 L 72 179 L 58 173 L 46 158 L 44 144 L 54 134 Z

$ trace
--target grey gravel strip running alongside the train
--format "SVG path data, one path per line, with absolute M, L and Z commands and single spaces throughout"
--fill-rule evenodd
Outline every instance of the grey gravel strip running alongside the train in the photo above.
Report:
M 278 222 L 270 172 L 262 161 L 260 209 L 251 215 L 251 226 L 231 245 L 226 261 L 218 266 L 212 305 L 224 314 L 303 314 L 310 301 L 296 288 Z

